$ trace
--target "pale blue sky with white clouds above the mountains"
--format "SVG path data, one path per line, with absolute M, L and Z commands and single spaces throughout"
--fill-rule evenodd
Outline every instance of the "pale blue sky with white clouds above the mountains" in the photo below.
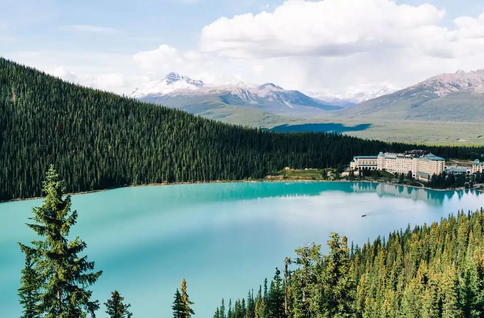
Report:
M 0 56 L 130 94 L 168 72 L 344 97 L 484 68 L 476 0 L 1 0 Z

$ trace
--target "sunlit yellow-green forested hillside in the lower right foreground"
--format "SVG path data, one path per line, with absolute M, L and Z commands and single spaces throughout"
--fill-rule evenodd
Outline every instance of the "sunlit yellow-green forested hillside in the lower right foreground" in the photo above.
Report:
M 482 317 L 483 236 L 482 208 L 361 248 L 333 233 L 327 255 L 315 244 L 296 249 L 269 286 L 222 302 L 214 318 Z

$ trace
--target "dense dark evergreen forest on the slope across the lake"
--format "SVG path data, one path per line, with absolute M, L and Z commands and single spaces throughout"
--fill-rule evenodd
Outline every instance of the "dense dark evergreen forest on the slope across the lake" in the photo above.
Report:
M 355 154 L 402 151 L 332 133 L 227 125 L 65 82 L 0 58 L 0 200 L 40 195 L 54 164 L 68 192 L 163 182 L 262 178 L 284 167 L 326 168 Z M 483 147 L 426 147 L 475 158 Z

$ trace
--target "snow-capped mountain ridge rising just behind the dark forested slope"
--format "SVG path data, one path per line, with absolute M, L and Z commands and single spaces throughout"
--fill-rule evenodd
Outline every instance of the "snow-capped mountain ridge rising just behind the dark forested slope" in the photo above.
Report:
M 262 85 L 241 81 L 213 85 L 189 77 L 170 73 L 161 81 L 148 83 L 136 89 L 131 97 L 170 107 L 190 109 L 197 113 L 196 105 L 206 109 L 214 105 L 250 107 L 272 114 L 318 114 L 340 110 L 343 107 L 310 97 L 297 90 L 286 90 L 273 83 Z

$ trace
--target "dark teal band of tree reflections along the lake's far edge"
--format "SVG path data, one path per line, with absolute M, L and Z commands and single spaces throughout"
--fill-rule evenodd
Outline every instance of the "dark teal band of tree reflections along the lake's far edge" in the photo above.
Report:
M 406 197 L 442 204 L 445 197 L 450 199 L 457 193 L 461 198 L 464 193 L 468 193 L 468 191 L 429 191 L 370 182 L 234 182 L 128 187 L 110 191 L 119 191 L 119 200 L 126 198 L 128 201 L 135 197 L 136 200 L 148 200 L 160 205 L 165 205 L 167 202 L 183 205 L 194 201 L 203 203 L 271 197 L 319 196 L 329 191 L 377 193 L 380 196 Z

